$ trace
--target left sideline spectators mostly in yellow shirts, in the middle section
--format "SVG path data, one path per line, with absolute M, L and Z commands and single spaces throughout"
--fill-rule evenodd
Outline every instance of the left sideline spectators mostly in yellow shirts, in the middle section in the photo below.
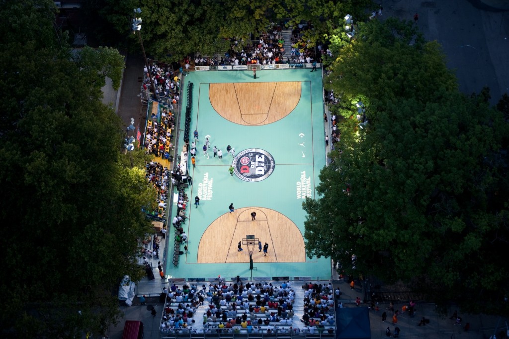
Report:
M 151 116 L 147 120 L 147 132 L 145 134 L 145 153 L 156 157 L 168 159 L 170 149 L 173 149 L 172 129 L 175 128 L 175 117 L 163 107 L 161 110 L 161 122 L 157 123 L 157 116 Z

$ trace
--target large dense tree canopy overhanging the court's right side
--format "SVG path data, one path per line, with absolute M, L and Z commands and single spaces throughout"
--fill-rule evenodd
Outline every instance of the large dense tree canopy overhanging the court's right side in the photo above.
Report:
M 347 274 L 413 281 L 469 310 L 507 312 L 503 114 L 486 95 L 459 93 L 438 45 L 409 24 L 374 21 L 357 37 L 336 46 L 325 82 L 344 120 L 321 197 L 304 203 L 308 255 L 330 255 Z

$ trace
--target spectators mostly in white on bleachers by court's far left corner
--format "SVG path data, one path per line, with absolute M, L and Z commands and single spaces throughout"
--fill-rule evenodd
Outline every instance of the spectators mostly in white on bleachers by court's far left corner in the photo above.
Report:
M 143 89 L 145 91 L 150 89 L 151 84 L 149 77 L 152 76 L 152 81 L 156 87 L 156 96 L 167 97 L 169 103 L 172 105 L 172 109 L 175 108 L 180 99 L 180 80 L 177 73 L 173 71 L 173 67 L 169 67 L 165 64 L 158 65 L 153 63 L 149 65 L 149 68 L 144 66 L 143 70 L 145 72 Z

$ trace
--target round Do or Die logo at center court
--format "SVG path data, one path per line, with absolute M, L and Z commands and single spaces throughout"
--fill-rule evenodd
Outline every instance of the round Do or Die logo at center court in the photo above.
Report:
M 264 149 L 248 148 L 233 159 L 235 175 L 244 181 L 256 182 L 267 179 L 274 171 L 274 158 Z

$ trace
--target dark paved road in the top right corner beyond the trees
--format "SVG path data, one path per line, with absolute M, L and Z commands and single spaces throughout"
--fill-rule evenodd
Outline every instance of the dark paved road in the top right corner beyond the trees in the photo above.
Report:
M 383 15 L 412 20 L 427 40 L 437 40 L 447 56 L 447 66 L 456 70 L 459 88 L 465 94 L 490 87 L 491 103 L 509 93 L 509 11 L 486 6 L 505 5 L 501 0 L 385 0 Z M 380 17 L 379 17 L 380 18 Z

